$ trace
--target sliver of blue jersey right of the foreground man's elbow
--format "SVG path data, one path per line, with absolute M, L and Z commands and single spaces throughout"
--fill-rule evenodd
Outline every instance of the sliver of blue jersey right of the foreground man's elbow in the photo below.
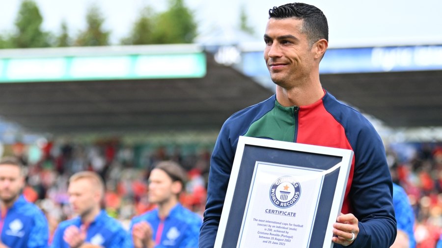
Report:
M 404 189 L 393 183 L 393 207 L 396 213 L 397 229 L 407 233 L 410 248 L 416 247 L 414 240 L 414 213 Z

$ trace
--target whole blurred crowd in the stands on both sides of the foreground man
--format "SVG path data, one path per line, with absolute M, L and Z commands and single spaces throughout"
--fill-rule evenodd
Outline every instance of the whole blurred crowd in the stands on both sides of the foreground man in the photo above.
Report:
M 5 152 L 26 165 L 24 195 L 46 213 L 51 231 L 73 216 L 67 180 L 84 170 L 103 177 L 105 209 L 125 227 L 132 217 L 154 207 L 147 197 L 147 178 L 152 166 L 162 160 L 176 161 L 186 169 L 189 180 L 180 200 L 201 217 L 204 211 L 210 145 L 184 152 L 177 147 L 122 146 L 116 141 L 88 145 L 45 142 L 32 148 L 17 143 Z M 417 248 L 434 248 L 442 230 L 442 145 L 390 146 L 387 161 L 393 181 L 405 189 L 413 206 Z

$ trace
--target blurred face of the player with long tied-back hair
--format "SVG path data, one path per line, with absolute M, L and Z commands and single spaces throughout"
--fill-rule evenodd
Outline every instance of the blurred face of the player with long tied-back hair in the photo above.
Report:
M 175 197 L 177 183 L 163 170 L 153 169 L 149 176 L 149 201 L 161 204 Z

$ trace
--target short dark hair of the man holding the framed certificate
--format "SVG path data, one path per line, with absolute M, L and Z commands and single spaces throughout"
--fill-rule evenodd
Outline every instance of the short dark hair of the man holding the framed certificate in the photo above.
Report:
M 303 20 L 303 33 L 307 35 L 309 47 L 320 39 L 329 41 L 329 25 L 324 13 L 317 7 L 302 3 L 294 2 L 273 7 L 269 10 L 269 19 L 285 19 L 295 18 Z

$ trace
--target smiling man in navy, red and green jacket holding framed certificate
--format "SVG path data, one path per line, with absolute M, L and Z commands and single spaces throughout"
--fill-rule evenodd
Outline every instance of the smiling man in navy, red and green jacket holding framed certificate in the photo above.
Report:
M 319 80 L 319 62 L 328 48 L 326 17 L 305 3 L 274 7 L 269 15 L 264 59 L 276 95 L 235 113 L 223 124 L 212 153 L 200 247 L 214 245 L 241 135 L 352 149 L 343 214 L 333 224 L 331 241 L 335 247 L 389 247 L 396 236 L 396 221 L 382 141 L 359 112 L 337 101 Z

